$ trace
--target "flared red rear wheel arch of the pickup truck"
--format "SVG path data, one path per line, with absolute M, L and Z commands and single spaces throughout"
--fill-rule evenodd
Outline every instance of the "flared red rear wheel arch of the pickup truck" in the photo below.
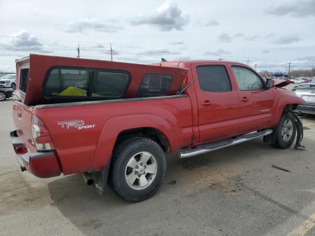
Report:
M 166 153 L 179 147 L 173 126 L 163 118 L 151 114 L 110 118 L 100 132 L 92 171 L 101 171 L 109 161 L 115 145 L 132 136 L 151 137 Z

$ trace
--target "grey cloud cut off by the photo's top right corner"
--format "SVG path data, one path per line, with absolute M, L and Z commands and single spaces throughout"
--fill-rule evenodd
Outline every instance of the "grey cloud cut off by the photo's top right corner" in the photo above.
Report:
M 314 0 L 296 0 L 292 3 L 283 3 L 272 9 L 266 9 L 265 13 L 275 16 L 293 16 L 307 17 L 315 16 L 315 1 Z

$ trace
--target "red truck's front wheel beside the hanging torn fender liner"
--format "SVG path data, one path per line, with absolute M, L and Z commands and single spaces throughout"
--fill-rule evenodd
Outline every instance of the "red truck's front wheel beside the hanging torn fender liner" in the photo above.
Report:
M 295 118 L 291 113 L 284 113 L 276 127 L 277 138 L 272 144 L 274 148 L 289 148 L 296 135 Z

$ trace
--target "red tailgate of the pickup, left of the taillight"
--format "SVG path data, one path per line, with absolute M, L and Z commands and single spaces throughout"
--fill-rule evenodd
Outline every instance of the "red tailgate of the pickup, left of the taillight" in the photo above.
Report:
M 36 148 L 32 145 L 32 111 L 33 108 L 24 105 L 20 101 L 13 103 L 13 120 L 17 128 L 17 134 L 25 145 L 32 151 Z

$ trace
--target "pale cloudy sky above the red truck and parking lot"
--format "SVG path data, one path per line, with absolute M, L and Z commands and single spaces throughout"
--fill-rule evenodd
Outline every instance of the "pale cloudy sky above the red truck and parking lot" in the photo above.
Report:
M 0 71 L 30 53 L 315 67 L 315 0 L 0 0 Z

